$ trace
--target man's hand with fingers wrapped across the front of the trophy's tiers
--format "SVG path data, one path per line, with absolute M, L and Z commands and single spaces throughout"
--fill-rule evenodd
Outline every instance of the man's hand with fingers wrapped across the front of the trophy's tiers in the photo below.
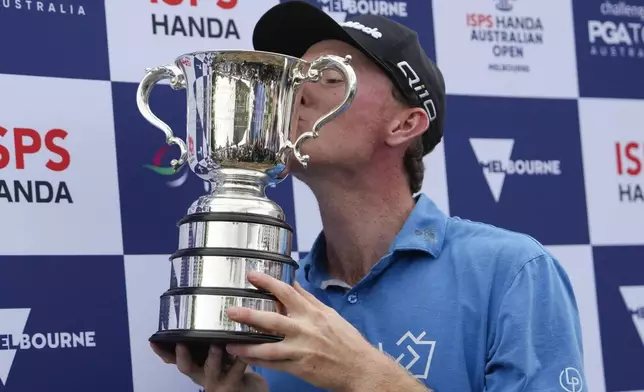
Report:
M 335 310 L 318 301 L 298 283 L 294 287 L 262 273 L 248 280 L 273 293 L 286 315 L 247 308 L 230 308 L 231 320 L 285 336 L 277 343 L 226 346 L 251 365 L 290 373 L 319 388 L 353 392 L 426 391 L 388 356 L 373 347 Z M 386 317 L 386 316 L 385 316 Z M 391 383 L 392 389 L 387 386 Z M 372 389 L 372 388 L 376 389 Z M 419 388 L 419 389 L 416 389 Z

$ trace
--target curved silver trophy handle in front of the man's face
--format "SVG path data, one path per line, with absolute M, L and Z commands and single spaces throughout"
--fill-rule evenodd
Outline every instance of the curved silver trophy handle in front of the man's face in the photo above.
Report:
M 344 112 L 353 102 L 353 98 L 356 95 L 358 89 L 357 78 L 353 67 L 349 65 L 351 62 L 351 56 L 346 55 L 344 58 L 333 55 L 325 55 L 315 59 L 306 75 L 298 74 L 296 75 L 296 85 L 299 85 L 304 82 L 313 82 L 317 83 L 320 81 L 322 71 L 327 69 L 333 69 L 340 72 L 345 81 L 344 87 L 344 99 L 340 104 L 333 108 L 330 112 L 320 117 L 315 124 L 313 124 L 313 129 L 309 132 L 305 132 L 300 137 L 297 138 L 295 143 L 293 143 L 293 154 L 295 158 L 306 168 L 309 162 L 308 155 L 302 155 L 300 151 L 302 143 L 307 139 L 315 139 L 318 137 L 318 131 L 326 123 L 338 117 L 342 112 Z

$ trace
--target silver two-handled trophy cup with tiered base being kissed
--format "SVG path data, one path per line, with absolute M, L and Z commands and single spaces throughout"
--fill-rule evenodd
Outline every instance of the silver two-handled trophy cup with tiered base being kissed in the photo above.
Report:
M 307 62 L 268 52 L 209 51 L 146 70 L 137 91 L 139 110 L 163 131 L 168 145 L 179 147 L 172 167 L 178 170 L 187 162 L 211 184 L 211 192 L 194 201 L 177 224 L 170 288 L 161 295 L 158 331 L 150 341 L 168 349 L 186 343 L 202 361 L 210 344 L 283 338 L 232 321 L 226 311 L 231 306 L 281 310 L 271 293 L 246 279 L 256 270 L 292 285 L 298 268 L 291 258 L 293 229 L 265 190 L 286 178 L 290 159 L 306 168 L 302 143 L 316 138 L 353 101 L 357 84 L 350 60 L 325 55 Z M 318 82 L 329 69 L 343 75 L 344 99 L 293 140 L 301 87 Z M 187 145 L 150 109 L 150 92 L 162 80 L 187 90 Z

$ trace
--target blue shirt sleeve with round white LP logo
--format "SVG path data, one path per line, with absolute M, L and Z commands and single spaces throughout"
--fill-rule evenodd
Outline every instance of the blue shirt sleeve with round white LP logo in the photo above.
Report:
M 485 392 L 588 391 L 577 303 L 555 259 L 542 255 L 526 263 L 494 320 Z

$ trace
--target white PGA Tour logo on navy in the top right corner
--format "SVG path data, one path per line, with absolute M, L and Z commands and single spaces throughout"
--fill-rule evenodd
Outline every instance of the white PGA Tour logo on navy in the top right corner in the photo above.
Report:
M 644 5 L 605 1 L 601 17 L 588 21 L 590 54 L 644 59 Z

